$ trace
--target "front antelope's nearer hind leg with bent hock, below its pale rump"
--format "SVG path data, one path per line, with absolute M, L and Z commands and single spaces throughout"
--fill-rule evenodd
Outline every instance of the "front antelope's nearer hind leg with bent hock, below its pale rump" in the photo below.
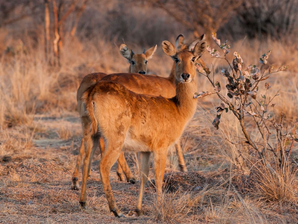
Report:
M 115 203 L 115 199 L 111 189 L 109 174 L 112 165 L 116 162 L 116 160 L 119 157 L 123 142 L 124 137 L 121 140 L 118 138 L 115 141 L 108 141 L 106 151 L 102 155 L 99 164 L 101 182 L 103 183 L 103 190 L 105 191 L 105 196 L 108 200 L 110 211 L 112 211 L 116 217 L 124 217 L 124 215 L 121 213 L 121 211 Z

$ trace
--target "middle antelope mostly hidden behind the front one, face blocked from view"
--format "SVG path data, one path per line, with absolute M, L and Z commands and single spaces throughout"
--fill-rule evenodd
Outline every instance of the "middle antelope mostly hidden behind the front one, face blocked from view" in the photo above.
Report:
M 203 34 L 200 38 L 194 39 L 190 43 L 185 43 L 184 36 L 182 34 L 180 34 L 176 38 L 177 49 L 178 50 L 192 49 L 196 43 L 198 43 L 200 40 L 204 40 L 205 37 L 206 37 L 205 34 Z M 152 49 L 152 47 L 148 50 L 148 52 L 151 52 L 151 49 Z M 155 50 L 153 50 L 152 52 L 154 53 Z M 130 51 L 129 51 L 128 47 L 126 47 L 126 45 L 120 46 L 120 53 L 122 55 L 127 55 L 127 56 L 130 55 Z M 131 55 L 134 55 L 134 54 L 131 53 Z M 149 57 L 151 57 L 151 56 L 152 56 L 152 54 L 149 55 Z M 128 58 L 129 58 L 129 56 L 128 56 Z M 136 59 L 134 59 L 134 60 L 137 61 Z M 128 62 L 130 62 L 129 59 L 128 59 Z M 133 91 L 135 93 L 148 94 L 148 95 L 153 95 L 153 96 L 161 95 L 161 96 L 164 96 L 167 98 L 173 97 L 176 94 L 175 73 L 174 73 L 175 66 L 176 66 L 176 63 L 174 62 L 171 73 L 167 78 L 163 78 L 160 76 L 154 76 L 154 75 L 144 76 L 144 75 L 128 74 L 128 73 L 111 74 L 108 76 L 105 73 L 89 74 L 84 77 L 84 79 L 77 91 L 77 101 L 79 100 L 78 97 L 82 96 L 83 92 L 88 87 L 94 85 L 97 81 L 103 79 L 103 77 L 104 77 L 103 80 L 121 83 L 122 85 L 124 85 L 125 87 L 127 87 L 128 89 L 130 89 L 131 91 Z M 131 69 L 131 66 L 129 69 Z M 104 147 L 103 139 L 100 140 L 100 144 L 102 147 Z M 180 170 L 187 171 L 185 161 L 183 158 L 183 152 L 181 149 L 180 139 L 177 140 L 177 142 L 175 143 L 175 148 L 176 148 L 176 153 L 178 155 Z M 79 182 L 78 182 L 79 175 L 78 175 L 78 173 L 79 173 L 79 169 L 80 169 L 81 160 L 84 157 L 84 154 L 85 154 L 84 143 L 83 143 L 83 139 L 82 139 L 80 152 L 79 152 L 79 155 L 77 158 L 76 168 L 72 175 L 72 189 L 79 189 Z M 118 163 L 117 163 L 117 175 L 118 175 L 119 179 L 122 180 L 123 179 L 122 170 L 121 170 L 121 167 L 119 166 L 119 164 L 122 164 L 122 166 L 123 166 L 122 169 L 123 169 L 123 172 L 127 179 L 127 182 L 135 183 L 136 178 L 131 173 L 131 171 L 126 163 L 123 153 L 120 154 L 120 157 L 119 157 Z

